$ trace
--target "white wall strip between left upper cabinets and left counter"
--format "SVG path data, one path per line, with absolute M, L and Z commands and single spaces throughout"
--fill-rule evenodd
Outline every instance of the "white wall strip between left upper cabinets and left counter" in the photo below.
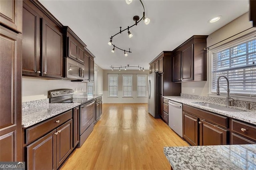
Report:
M 22 102 L 47 99 L 48 91 L 54 89 L 73 89 L 75 93 L 86 92 L 87 83 L 68 80 L 46 80 L 22 77 Z

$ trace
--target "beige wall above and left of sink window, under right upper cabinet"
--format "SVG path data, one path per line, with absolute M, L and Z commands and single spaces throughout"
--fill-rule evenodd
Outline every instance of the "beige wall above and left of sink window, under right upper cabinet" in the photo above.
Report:
M 210 34 L 207 38 L 207 47 L 214 45 L 218 42 L 221 42 L 231 36 L 234 36 L 244 30 L 247 30 L 252 27 L 252 22 L 249 22 L 249 14 L 248 12 L 244 15 L 236 18 L 232 22 L 228 23 L 226 26 L 223 26 L 219 30 L 216 30 L 212 34 Z M 249 30 L 252 31 L 252 30 Z M 249 32 L 247 31 L 247 32 Z M 243 34 L 246 34 L 247 32 L 244 32 Z M 239 35 L 241 36 L 241 34 Z M 237 36 L 228 39 L 227 41 L 234 40 L 234 38 L 237 38 Z M 222 43 L 225 43 L 222 42 Z M 218 45 L 221 45 L 222 43 L 218 43 Z M 181 85 L 181 93 L 187 93 L 191 95 L 200 95 L 200 96 L 208 96 L 209 92 L 209 69 L 211 66 L 209 65 L 209 55 L 207 53 L 207 81 L 199 81 L 199 82 L 186 82 L 182 83 Z M 192 93 L 192 89 L 195 89 L 195 93 Z

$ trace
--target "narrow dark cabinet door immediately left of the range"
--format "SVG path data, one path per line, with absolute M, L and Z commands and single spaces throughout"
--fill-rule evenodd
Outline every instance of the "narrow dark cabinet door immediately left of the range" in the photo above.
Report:
M 73 109 L 73 148 L 79 143 L 79 107 Z

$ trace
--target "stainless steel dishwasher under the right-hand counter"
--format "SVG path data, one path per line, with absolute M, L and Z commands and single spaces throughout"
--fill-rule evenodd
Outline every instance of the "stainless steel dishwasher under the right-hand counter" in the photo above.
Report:
M 182 137 L 182 103 L 168 101 L 169 127 Z

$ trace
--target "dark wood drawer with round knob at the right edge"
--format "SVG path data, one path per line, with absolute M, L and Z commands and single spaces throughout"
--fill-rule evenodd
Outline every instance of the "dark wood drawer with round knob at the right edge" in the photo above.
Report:
M 254 127 L 252 125 L 248 125 L 246 123 L 232 120 L 231 121 L 231 129 L 234 132 L 237 132 L 237 133 L 242 134 L 248 138 L 256 140 L 256 127 Z

